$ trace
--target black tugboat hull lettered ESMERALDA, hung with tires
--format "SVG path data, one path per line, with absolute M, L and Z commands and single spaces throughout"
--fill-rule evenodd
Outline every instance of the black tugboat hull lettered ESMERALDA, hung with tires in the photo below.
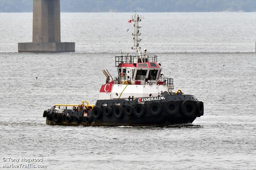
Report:
M 170 105 L 172 102 L 174 104 Z M 71 109 L 58 110 L 52 107 L 47 113 L 49 115 L 46 116 L 46 124 L 63 126 L 166 126 L 192 123 L 196 117 L 203 115 L 203 104 L 202 108 L 201 106 L 199 108 L 198 104 L 199 101 L 196 100 L 195 96 L 181 94 L 157 98 L 137 98 L 135 100 L 97 100 L 94 109 L 88 111 L 87 116 L 84 116 L 82 110 L 75 112 Z M 131 115 L 124 110 L 128 105 L 133 107 Z M 104 107 L 111 107 L 110 110 L 113 109 L 112 114 L 107 115 L 106 111 L 104 112 Z M 143 115 L 134 112 L 134 109 L 140 111 L 138 107 L 144 109 Z M 172 112 L 173 110 L 175 113 Z M 67 121 L 67 116 L 69 119 L 71 118 L 69 121 Z

